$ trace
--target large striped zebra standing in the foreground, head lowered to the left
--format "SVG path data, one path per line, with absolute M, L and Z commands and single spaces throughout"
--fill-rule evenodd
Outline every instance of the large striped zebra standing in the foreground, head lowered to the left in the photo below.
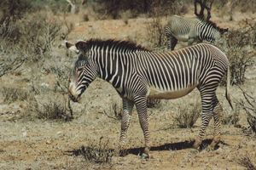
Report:
M 199 148 L 212 116 L 214 138 L 212 147 L 220 140 L 222 106 L 216 89 L 227 73 L 226 99 L 230 106 L 230 67 L 225 54 L 211 44 L 200 43 L 173 52 L 153 52 L 134 42 L 90 39 L 67 48 L 79 53 L 69 79 L 68 95 L 78 102 L 81 94 L 96 77 L 110 82 L 123 100 L 119 148 L 123 149 L 129 120 L 134 105 L 143 129 L 145 148 L 143 157 L 149 157 L 149 130 L 147 98 L 177 99 L 194 88 L 201 93 L 202 124 L 194 147 Z

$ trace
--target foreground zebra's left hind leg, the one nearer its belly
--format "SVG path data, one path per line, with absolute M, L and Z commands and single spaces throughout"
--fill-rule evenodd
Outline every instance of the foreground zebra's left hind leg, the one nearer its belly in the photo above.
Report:
M 208 91 L 207 89 L 206 91 Z M 207 126 L 212 119 L 213 111 L 212 111 L 212 99 L 214 94 L 201 92 L 201 105 L 202 105 L 202 113 L 201 113 L 201 129 L 197 138 L 195 138 L 195 143 L 193 147 L 195 149 L 199 149 L 202 140 L 206 135 Z

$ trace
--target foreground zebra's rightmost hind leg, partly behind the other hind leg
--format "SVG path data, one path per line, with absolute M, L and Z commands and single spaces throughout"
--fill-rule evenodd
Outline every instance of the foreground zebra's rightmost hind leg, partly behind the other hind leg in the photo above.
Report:
M 214 137 L 212 139 L 212 144 L 210 144 L 210 149 L 214 150 L 215 146 L 220 142 L 220 126 L 221 119 L 223 117 L 223 108 L 220 105 L 217 96 L 215 95 L 212 99 L 213 105 L 213 118 L 214 118 Z

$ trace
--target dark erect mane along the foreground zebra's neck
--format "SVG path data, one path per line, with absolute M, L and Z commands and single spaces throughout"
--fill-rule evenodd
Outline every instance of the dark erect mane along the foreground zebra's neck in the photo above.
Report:
M 143 48 L 141 45 L 137 45 L 135 42 L 130 41 L 120 41 L 120 40 L 101 40 L 101 39 L 90 39 L 86 41 L 88 47 L 100 47 L 100 48 L 119 48 L 126 50 L 142 50 L 149 51 L 147 48 Z

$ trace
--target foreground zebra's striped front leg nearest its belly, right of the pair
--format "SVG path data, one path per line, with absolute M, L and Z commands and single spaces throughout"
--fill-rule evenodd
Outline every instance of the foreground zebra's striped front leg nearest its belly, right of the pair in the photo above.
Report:
M 149 150 L 150 150 L 150 139 L 149 139 L 149 130 L 148 130 L 148 113 L 147 113 L 147 98 L 139 97 L 135 99 L 135 105 L 137 108 L 137 115 L 139 118 L 140 125 L 143 129 L 143 135 L 145 139 L 145 149 L 143 151 L 142 158 L 149 158 Z

